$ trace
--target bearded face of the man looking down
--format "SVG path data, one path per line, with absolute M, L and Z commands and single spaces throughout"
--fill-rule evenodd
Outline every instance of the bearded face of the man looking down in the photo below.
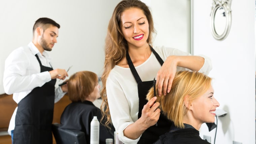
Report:
M 42 33 L 39 44 L 44 50 L 51 51 L 54 44 L 57 43 L 57 37 L 59 35 L 59 29 L 55 26 L 50 26 Z

